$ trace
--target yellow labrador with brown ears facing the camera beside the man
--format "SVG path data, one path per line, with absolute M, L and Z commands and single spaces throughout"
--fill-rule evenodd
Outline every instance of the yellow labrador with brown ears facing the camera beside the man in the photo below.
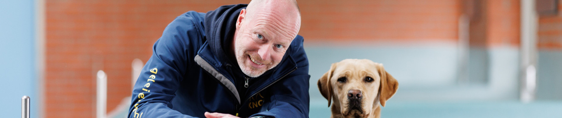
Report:
M 398 82 L 384 70 L 383 64 L 368 59 L 345 59 L 333 63 L 318 80 L 320 93 L 333 99 L 332 117 L 380 117 L 384 107 L 398 89 Z

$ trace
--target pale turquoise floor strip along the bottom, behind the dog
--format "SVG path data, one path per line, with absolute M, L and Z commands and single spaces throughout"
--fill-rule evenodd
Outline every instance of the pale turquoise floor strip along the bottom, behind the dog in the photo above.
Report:
M 327 103 L 312 103 L 310 117 L 329 117 Z M 387 102 L 381 117 L 562 117 L 562 101 Z

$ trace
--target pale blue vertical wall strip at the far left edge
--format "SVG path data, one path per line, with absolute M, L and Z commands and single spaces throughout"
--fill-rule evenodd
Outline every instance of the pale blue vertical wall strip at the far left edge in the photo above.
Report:
M 38 117 L 35 1 L 0 2 L 0 117 L 21 117 L 21 97 L 31 97 Z

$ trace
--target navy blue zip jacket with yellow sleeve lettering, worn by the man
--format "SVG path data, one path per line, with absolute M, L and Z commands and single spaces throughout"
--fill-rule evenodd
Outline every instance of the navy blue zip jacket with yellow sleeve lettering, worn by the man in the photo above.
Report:
M 247 4 L 176 17 L 153 46 L 133 88 L 129 117 L 309 117 L 309 62 L 297 35 L 277 67 L 257 78 L 230 60 L 235 22 Z M 244 87 L 248 79 L 249 87 Z

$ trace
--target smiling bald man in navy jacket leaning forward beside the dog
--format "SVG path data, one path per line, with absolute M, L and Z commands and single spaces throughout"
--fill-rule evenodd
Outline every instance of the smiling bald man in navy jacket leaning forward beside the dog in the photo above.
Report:
M 300 26 L 293 0 L 176 17 L 135 83 L 129 117 L 309 117 Z

